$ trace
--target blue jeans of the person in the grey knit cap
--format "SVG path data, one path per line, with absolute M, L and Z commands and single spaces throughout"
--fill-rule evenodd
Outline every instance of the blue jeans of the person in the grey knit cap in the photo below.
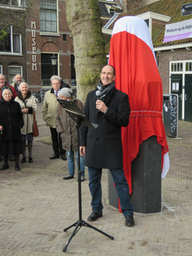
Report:
M 76 154 L 76 160 L 77 160 L 77 166 L 78 166 L 78 150 L 67 151 L 69 175 L 74 175 L 74 172 L 75 172 L 74 152 Z M 81 171 L 81 176 L 84 176 L 84 156 L 82 155 L 80 155 L 80 171 Z

